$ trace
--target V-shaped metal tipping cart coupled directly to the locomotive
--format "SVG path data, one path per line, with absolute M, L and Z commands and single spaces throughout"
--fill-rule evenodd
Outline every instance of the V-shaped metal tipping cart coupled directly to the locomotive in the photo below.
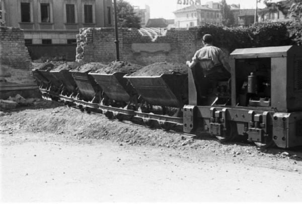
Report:
M 147 104 L 162 107 L 162 112 L 137 111 L 137 117 L 141 117 L 151 125 L 156 120 L 164 129 L 169 129 L 171 124 L 182 124 L 181 108 L 187 100 L 187 75 L 162 74 L 160 76 L 124 76 L 124 78 L 129 80 Z M 168 110 L 172 107 L 175 111 L 171 114 Z

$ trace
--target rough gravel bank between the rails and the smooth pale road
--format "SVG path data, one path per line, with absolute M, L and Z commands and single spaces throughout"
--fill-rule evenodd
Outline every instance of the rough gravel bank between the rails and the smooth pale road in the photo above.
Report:
M 241 141 L 221 144 L 213 136 L 198 134 L 192 138 L 191 135 L 177 132 L 181 127 L 176 128 L 176 131 L 167 132 L 130 121 L 118 122 L 94 114 L 82 113 L 77 109 L 62 106 L 61 103 L 55 101 L 39 100 L 33 106 L 0 112 L 0 116 L 2 127 L 0 132 L 28 131 L 33 133 L 49 132 L 58 135 L 68 134 L 79 140 L 105 139 L 129 145 L 202 150 L 219 156 L 251 157 L 255 160 L 261 158 L 293 161 L 302 159 L 301 149 L 299 151 L 294 151 L 294 149 L 293 151 L 261 150 L 253 143 L 242 143 Z

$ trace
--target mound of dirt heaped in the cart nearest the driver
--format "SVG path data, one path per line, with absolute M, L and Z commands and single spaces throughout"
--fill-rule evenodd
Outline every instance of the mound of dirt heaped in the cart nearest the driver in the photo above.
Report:
M 162 74 L 186 75 L 188 67 L 180 63 L 157 62 L 143 67 L 130 76 L 160 76 Z

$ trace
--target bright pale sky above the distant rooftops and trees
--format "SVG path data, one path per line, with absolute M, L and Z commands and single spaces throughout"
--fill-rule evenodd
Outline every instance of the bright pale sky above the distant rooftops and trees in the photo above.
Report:
M 145 5 L 150 7 L 150 18 L 164 18 L 174 19 L 172 12 L 184 8 L 182 5 L 177 5 L 177 0 L 125 0 L 132 6 L 139 6 L 144 9 Z M 220 2 L 221 0 L 212 0 L 213 2 Z M 201 4 L 205 5 L 210 0 L 201 0 Z M 241 9 L 255 9 L 256 0 L 226 0 L 226 4 L 240 4 Z M 188 7 L 188 6 L 185 6 Z M 258 3 L 258 8 L 264 8 L 264 4 Z

